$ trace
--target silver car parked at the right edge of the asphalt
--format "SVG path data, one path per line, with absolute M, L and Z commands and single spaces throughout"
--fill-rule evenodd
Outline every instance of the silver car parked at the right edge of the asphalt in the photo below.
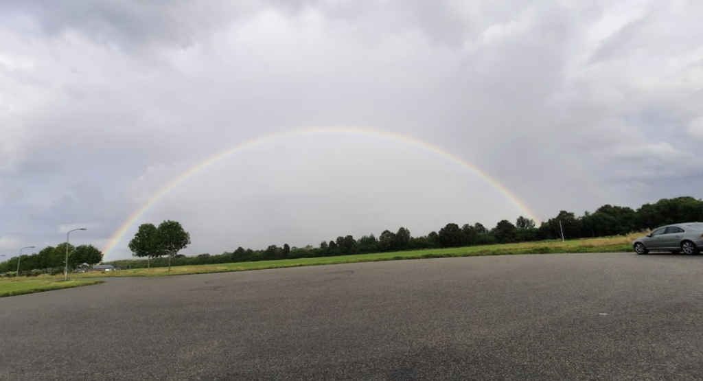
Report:
M 647 252 L 685 252 L 698 254 L 703 248 L 703 223 L 687 222 L 656 228 L 652 233 L 633 240 L 637 254 Z

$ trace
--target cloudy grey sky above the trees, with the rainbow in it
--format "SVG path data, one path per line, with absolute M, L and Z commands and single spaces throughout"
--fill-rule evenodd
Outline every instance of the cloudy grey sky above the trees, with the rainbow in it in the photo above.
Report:
M 702 19 L 697 0 L 2 0 L 0 253 L 87 228 L 71 243 L 128 258 L 167 219 L 183 254 L 220 254 L 701 198 Z

